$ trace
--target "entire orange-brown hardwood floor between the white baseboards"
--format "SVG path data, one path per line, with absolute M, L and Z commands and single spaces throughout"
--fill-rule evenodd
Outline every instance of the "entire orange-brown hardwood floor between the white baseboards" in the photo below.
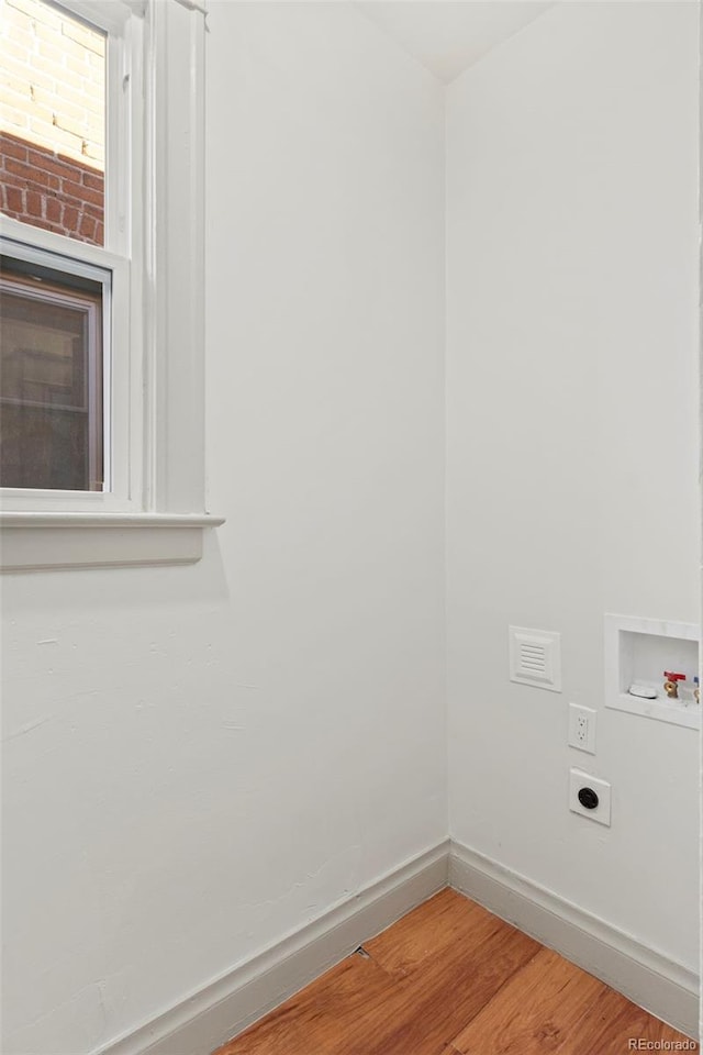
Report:
M 625 1055 L 639 1040 L 688 1037 L 447 889 L 216 1055 Z

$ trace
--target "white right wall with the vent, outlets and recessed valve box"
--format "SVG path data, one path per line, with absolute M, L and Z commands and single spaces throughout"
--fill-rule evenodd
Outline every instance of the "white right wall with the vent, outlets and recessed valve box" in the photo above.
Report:
M 698 736 L 603 708 L 602 635 L 699 613 L 696 19 L 558 4 L 447 92 L 451 834 L 692 968 Z M 562 695 L 509 623 L 562 632 Z

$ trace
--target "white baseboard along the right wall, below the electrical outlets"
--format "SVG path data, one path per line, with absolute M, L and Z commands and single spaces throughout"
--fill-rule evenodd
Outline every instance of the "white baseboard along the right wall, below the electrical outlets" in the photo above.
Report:
M 454 841 L 449 885 L 555 948 L 657 1018 L 688 1036 L 698 1036 L 695 971 Z

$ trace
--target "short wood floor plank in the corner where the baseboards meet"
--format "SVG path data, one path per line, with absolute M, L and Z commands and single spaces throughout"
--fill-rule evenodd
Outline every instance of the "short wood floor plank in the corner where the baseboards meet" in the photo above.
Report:
M 364 948 L 390 974 L 404 976 L 457 942 L 481 941 L 495 917 L 447 887 L 393 923 Z

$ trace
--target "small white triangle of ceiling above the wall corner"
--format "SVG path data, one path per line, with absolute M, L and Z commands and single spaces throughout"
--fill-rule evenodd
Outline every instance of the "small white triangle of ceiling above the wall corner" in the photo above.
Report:
M 555 0 L 356 0 L 357 8 L 448 84 Z

